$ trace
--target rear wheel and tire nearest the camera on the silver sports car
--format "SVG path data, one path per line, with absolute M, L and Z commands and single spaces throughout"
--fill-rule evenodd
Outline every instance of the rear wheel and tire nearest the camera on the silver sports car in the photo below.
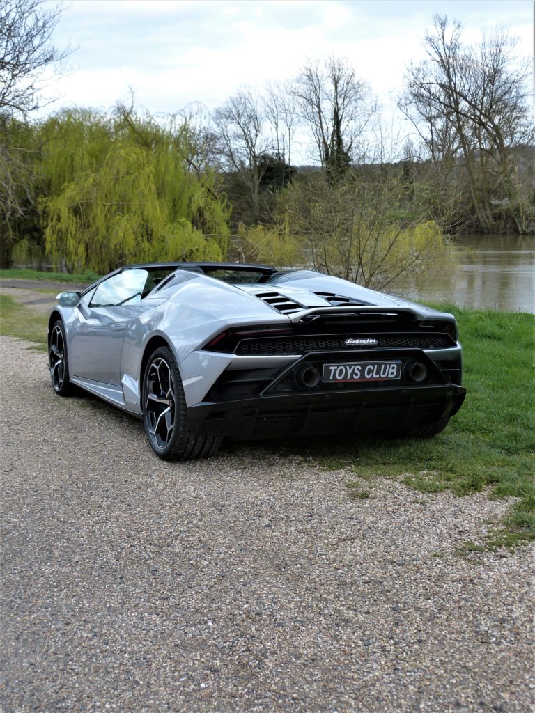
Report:
M 143 424 L 151 448 L 164 460 L 208 458 L 219 450 L 220 436 L 194 436 L 188 425 L 184 389 L 173 352 L 159 347 L 143 376 Z

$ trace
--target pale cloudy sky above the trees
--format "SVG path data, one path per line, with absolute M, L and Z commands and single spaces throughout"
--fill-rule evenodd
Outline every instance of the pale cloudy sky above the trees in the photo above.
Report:
M 71 0 L 54 34 L 58 47 L 71 44 L 69 71 L 49 84 L 56 101 L 45 113 L 108 110 L 131 93 L 153 115 L 195 102 L 212 111 L 240 87 L 263 91 L 330 55 L 392 112 L 434 14 L 460 20 L 467 44 L 506 27 L 519 54 L 533 55 L 532 0 Z

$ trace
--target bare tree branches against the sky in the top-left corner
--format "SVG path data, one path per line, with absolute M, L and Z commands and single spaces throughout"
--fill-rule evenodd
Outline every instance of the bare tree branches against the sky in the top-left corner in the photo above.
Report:
M 44 0 L 0 2 L 0 112 L 26 116 L 44 106 L 41 73 L 59 67 L 69 49 L 52 40 L 61 5 Z

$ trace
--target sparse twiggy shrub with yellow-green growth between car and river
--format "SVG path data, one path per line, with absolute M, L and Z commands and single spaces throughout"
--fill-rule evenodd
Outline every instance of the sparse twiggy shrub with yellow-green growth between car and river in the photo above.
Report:
M 352 171 L 335 183 L 316 173 L 290 186 L 281 203 L 306 262 L 376 289 L 452 263 L 442 231 L 413 209 L 396 168 Z

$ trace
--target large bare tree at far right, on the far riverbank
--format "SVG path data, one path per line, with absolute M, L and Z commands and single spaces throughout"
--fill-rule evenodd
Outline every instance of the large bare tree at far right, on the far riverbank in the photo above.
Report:
M 514 43 L 500 32 L 464 47 L 461 24 L 435 16 L 425 49 L 427 60 L 407 69 L 400 108 L 430 158 L 452 176 L 462 171 L 479 226 L 503 229 L 514 220 L 524 232 L 530 207 L 516 159 L 533 144 L 535 130 L 527 68 L 516 62 Z

